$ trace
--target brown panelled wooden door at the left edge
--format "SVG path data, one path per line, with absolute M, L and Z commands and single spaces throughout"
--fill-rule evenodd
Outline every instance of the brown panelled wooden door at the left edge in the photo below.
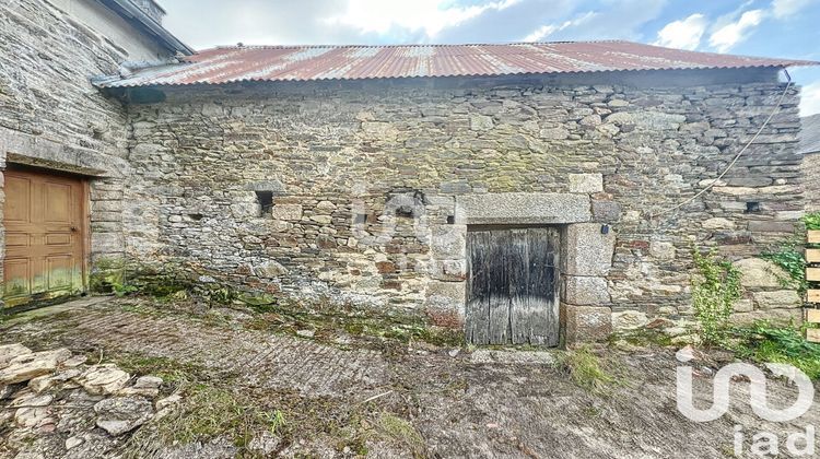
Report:
M 81 179 L 4 172 L 7 307 L 83 290 L 84 201 Z

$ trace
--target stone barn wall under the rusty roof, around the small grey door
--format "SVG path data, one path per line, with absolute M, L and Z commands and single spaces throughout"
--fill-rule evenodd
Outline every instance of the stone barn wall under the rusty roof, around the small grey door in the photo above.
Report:
M 585 281 L 606 287 L 596 306 L 616 313 L 616 327 L 686 315 L 693 244 L 749 259 L 793 234 L 801 214 L 796 89 L 724 180 L 660 214 L 711 184 L 751 138 L 784 90 L 775 79 L 622 72 L 167 89 L 163 102 L 129 107 L 128 252 L 181 261 L 204 282 L 453 310 L 466 275 L 459 200 L 576 195 L 589 202 L 584 221 L 613 235 L 601 260 L 611 267 Z M 753 290 L 743 308 L 778 307 Z

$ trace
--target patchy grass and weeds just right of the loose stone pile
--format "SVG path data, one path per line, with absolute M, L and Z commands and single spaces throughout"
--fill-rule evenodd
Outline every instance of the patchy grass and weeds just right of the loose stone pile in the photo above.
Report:
M 335 397 L 303 397 L 296 391 L 245 386 L 235 375 L 165 357 L 118 353 L 106 356 L 120 368 L 165 380 L 164 395 L 183 397 L 179 408 L 144 425 L 120 451 L 127 458 L 167 455 L 166 448 L 212 440 L 229 442 L 237 457 L 261 457 L 249 448 L 255 438 L 272 436 L 277 451 L 296 439 L 327 438 L 338 452 L 364 456 L 367 442 L 395 443 L 413 456 L 424 456 L 421 435 L 409 422 L 386 410 L 405 411 L 385 400 L 353 403 Z M 95 356 L 96 358 L 96 356 Z

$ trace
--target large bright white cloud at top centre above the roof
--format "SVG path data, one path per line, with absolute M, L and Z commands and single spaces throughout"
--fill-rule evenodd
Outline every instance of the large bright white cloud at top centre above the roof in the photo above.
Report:
M 387 34 L 394 27 L 423 31 L 430 38 L 485 12 L 505 10 L 520 0 L 497 0 L 469 7 L 446 7 L 445 0 L 350 0 L 347 10 L 324 20 L 328 25 L 348 25 L 361 33 Z

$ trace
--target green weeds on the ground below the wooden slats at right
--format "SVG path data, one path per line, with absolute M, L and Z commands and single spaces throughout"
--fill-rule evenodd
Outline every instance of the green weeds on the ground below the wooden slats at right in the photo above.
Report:
M 820 344 L 806 341 L 805 330 L 777 327 L 764 321 L 731 331 L 731 348 L 741 358 L 758 363 L 789 364 L 812 380 L 820 379 Z

